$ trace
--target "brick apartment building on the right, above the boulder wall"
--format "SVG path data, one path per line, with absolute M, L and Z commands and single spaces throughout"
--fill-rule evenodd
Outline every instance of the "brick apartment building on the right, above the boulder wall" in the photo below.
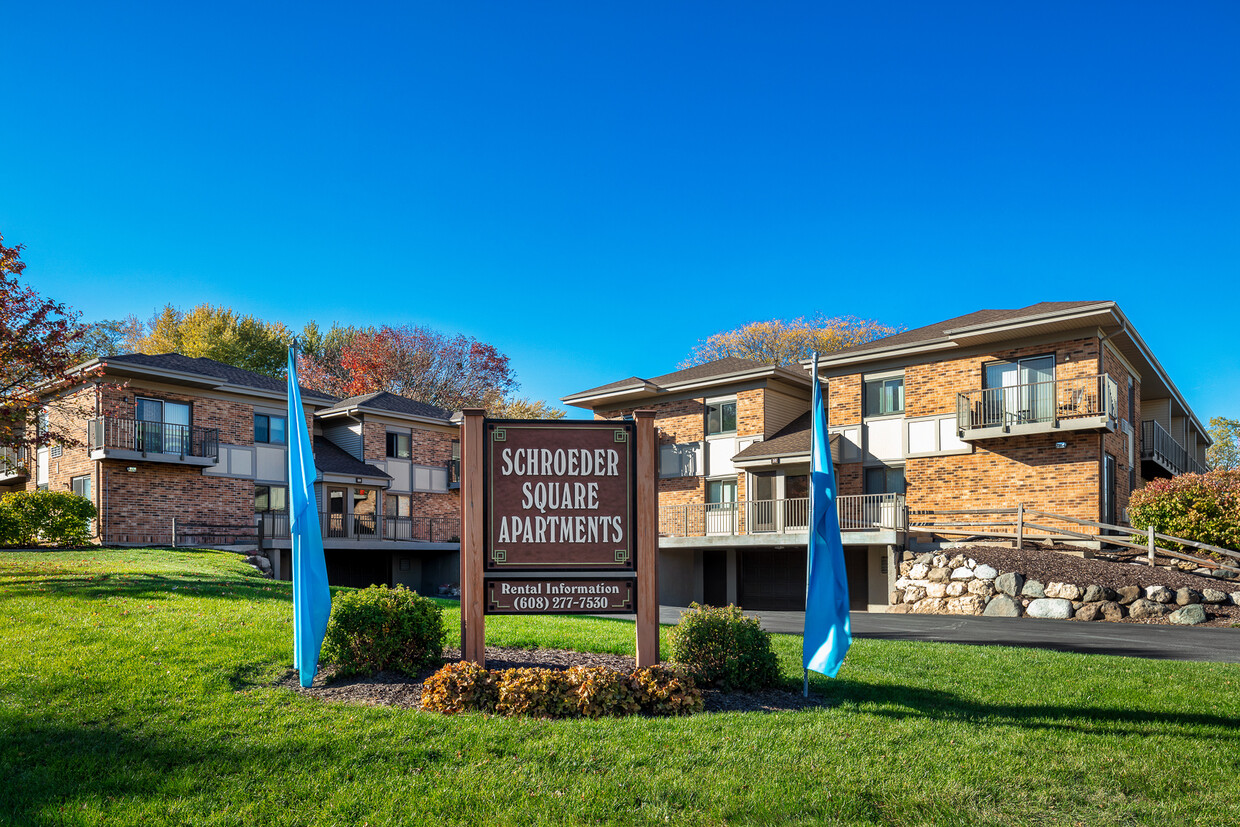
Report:
M 661 601 L 804 605 L 810 366 L 725 358 L 564 397 L 656 410 Z M 820 360 L 854 609 L 887 604 L 908 515 L 1123 523 L 1145 481 L 1205 470 L 1200 420 L 1112 301 L 980 310 Z

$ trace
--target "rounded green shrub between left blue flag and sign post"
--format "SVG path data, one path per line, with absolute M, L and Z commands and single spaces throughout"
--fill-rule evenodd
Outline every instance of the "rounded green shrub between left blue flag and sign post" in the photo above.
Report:
M 382 670 L 417 674 L 443 661 L 443 610 L 403 585 L 343 591 L 332 601 L 322 656 L 342 676 Z

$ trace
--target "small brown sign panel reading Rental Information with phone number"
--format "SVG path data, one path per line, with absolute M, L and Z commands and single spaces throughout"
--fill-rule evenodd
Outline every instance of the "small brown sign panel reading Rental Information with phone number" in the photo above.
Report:
M 627 614 L 637 582 L 626 579 L 487 578 L 486 614 Z

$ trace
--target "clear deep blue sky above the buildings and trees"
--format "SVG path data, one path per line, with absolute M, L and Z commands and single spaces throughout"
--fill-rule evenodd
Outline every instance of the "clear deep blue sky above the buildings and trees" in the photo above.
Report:
M 87 319 L 490 341 L 1115 299 L 1240 417 L 1240 4 L 9 4 L 0 232 Z

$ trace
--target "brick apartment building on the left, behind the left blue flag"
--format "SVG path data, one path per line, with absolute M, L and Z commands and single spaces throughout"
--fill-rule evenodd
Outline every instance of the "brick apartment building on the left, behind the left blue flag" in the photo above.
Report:
M 291 575 L 285 382 L 176 353 L 92 360 L 47 415 L 83 445 L 38 449 L 0 491 L 73 491 L 98 508 L 107 544 L 262 546 Z M 303 389 L 334 584 L 458 580 L 458 425 L 389 393 Z

